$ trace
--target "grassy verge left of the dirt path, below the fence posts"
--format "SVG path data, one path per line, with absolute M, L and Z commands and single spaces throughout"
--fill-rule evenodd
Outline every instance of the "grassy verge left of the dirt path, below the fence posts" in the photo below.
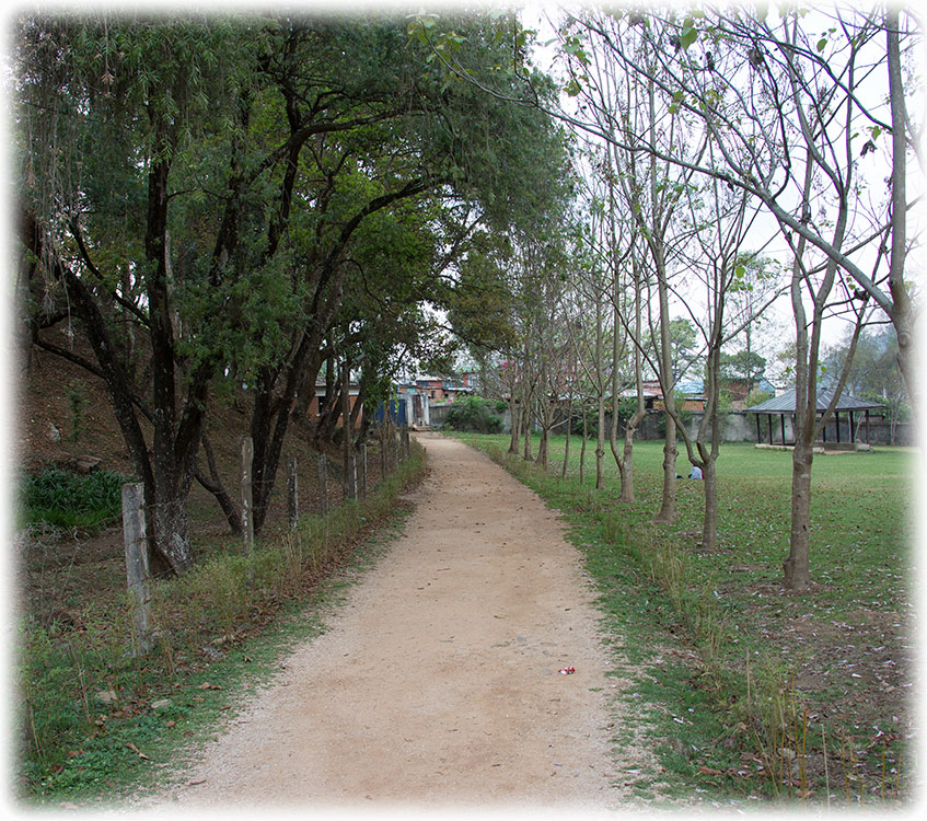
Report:
M 213 733 L 321 613 L 371 566 L 425 471 L 419 448 L 362 501 L 303 517 L 251 556 L 213 551 L 182 578 L 154 585 L 153 650 L 132 652 L 127 604 L 80 614 L 80 626 L 19 625 L 16 683 L 23 801 L 105 803 L 158 784 Z

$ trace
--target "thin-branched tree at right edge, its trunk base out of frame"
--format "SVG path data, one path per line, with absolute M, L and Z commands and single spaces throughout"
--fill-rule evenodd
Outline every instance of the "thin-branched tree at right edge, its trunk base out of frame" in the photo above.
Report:
M 760 199 L 784 232 L 803 236 L 860 298 L 884 311 L 899 334 L 902 372 L 916 385 L 917 313 L 905 262 L 919 242 L 908 231 L 908 215 L 922 192 L 911 186 L 919 177 L 908 172 L 907 160 L 915 158 L 923 170 L 924 124 L 906 102 L 923 93 L 914 55 L 918 21 L 889 4 L 808 15 L 785 8 L 711 10 L 681 24 L 665 22 L 679 48 L 661 61 L 676 69 L 651 76 L 711 129 L 722 161 L 700 164 L 699 172 Z M 741 66 L 715 74 L 723 94 L 703 82 L 708 59 L 714 66 L 721 50 L 737 55 Z M 681 63 L 691 70 L 680 70 Z M 836 236 L 827 221 L 801 211 L 806 152 L 821 173 L 818 192 L 825 186 L 846 206 L 845 229 Z M 889 185 L 880 189 L 883 178 Z M 916 388 L 909 393 L 917 406 Z

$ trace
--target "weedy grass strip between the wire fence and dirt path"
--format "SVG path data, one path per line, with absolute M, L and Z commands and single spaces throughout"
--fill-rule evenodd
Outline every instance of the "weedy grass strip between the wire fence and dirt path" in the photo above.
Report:
M 159 695 L 215 686 L 193 682 L 222 655 L 216 648 L 237 646 L 304 599 L 348 559 L 352 545 L 395 514 L 399 495 L 424 472 L 425 451 L 413 443 L 409 456 L 364 498 L 304 516 L 294 530 L 258 539 L 251 553 L 216 553 L 179 578 L 154 581 L 154 641 L 144 656 L 135 652 L 128 595 L 81 613 L 79 629 L 25 620 L 16 666 L 21 790 L 105 793 L 94 762 L 107 778 L 118 776 L 101 750 L 125 753 L 124 737 L 166 731 L 169 713 L 152 720 Z M 126 736 L 126 726 L 136 735 Z

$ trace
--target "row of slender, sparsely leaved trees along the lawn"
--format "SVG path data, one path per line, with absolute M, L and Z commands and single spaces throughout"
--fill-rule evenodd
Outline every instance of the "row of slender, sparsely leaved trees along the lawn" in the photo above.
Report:
M 591 393 L 596 486 L 607 437 L 622 498 L 631 500 L 642 373 L 658 379 L 667 440 L 654 518 L 675 516 L 681 438 L 705 478 L 703 541 L 711 548 L 725 354 L 739 340 L 749 359 L 754 328 L 784 296 L 793 316 L 798 396 L 784 567 L 787 586 L 804 589 L 813 442 L 833 412 L 833 403 L 823 417 L 816 409 L 825 322 L 848 328 L 846 367 L 831 375 L 834 402 L 862 328 L 890 323 L 901 374 L 919 406 L 918 238 L 908 230 L 920 194 L 919 185 L 908 186 L 923 176 L 918 21 L 894 5 L 763 4 L 691 14 L 590 8 L 546 23 L 564 93 L 546 105 L 526 74 L 513 74 L 522 104 L 575 135 L 578 197 L 566 232 L 521 239 L 493 273 L 515 294 L 507 305 L 510 338 L 488 345 L 501 351 L 512 410 L 517 396 L 520 408 L 534 408 L 543 462 L 553 402 Z M 434 28 L 422 35 L 448 72 L 460 73 L 452 44 Z M 465 275 L 485 280 L 494 270 L 487 258 Z M 695 436 L 679 425 L 674 391 L 681 369 L 672 323 L 680 316 L 697 329 L 705 362 L 698 375 L 706 413 Z M 606 433 L 604 405 L 606 396 L 617 405 L 624 393 L 636 407 L 625 414 L 619 448 L 618 414 Z M 530 427 L 523 433 L 529 455 Z

